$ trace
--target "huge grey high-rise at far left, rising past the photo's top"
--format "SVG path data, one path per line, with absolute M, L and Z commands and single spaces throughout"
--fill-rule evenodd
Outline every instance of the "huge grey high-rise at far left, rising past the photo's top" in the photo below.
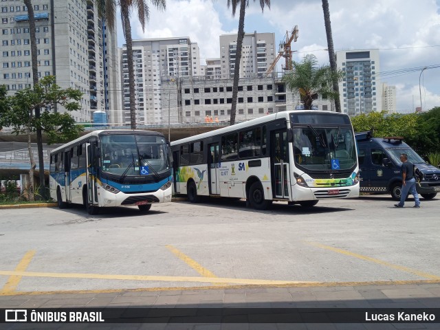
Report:
M 39 77 L 54 75 L 62 88 L 83 92 L 76 122 L 94 111 L 118 107 L 116 32 L 109 32 L 92 0 L 32 0 L 36 20 Z M 1 1 L 2 73 L 10 93 L 32 86 L 28 11 L 23 1 Z M 63 111 L 58 107 L 57 111 Z M 114 111 L 117 113 L 118 111 Z

